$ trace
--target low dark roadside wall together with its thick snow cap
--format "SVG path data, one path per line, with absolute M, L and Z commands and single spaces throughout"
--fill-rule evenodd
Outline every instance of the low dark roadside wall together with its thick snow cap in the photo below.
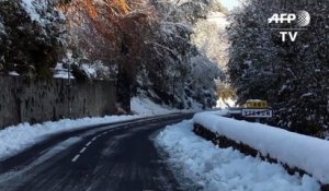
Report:
M 211 119 L 211 118 L 213 118 L 213 119 Z M 313 154 L 315 154 L 315 152 L 311 152 L 309 146 L 303 147 L 303 144 L 299 145 L 299 148 L 304 150 L 304 153 L 300 154 L 300 156 L 299 156 L 300 159 L 298 162 L 302 162 L 303 157 L 306 156 L 307 154 L 311 155 L 311 156 L 308 156 L 307 158 L 304 158 L 305 159 L 304 163 L 310 163 L 310 164 L 305 164 L 305 165 L 302 164 L 300 165 L 300 163 L 298 163 L 298 162 L 295 162 L 295 164 L 291 163 L 291 160 L 287 159 L 286 156 L 283 156 L 281 158 L 280 155 L 277 153 L 275 153 L 275 150 L 260 150 L 258 146 L 256 146 L 256 144 L 252 144 L 252 143 L 250 143 L 250 141 L 248 141 L 250 138 L 252 138 L 251 134 L 258 131 L 258 128 L 259 128 L 259 131 L 261 132 L 260 134 L 262 134 L 264 131 L 266 131 L 265 128 L 270 129 L 269 130 L 270 133 L 268 133 L 268 134 L 263 133 L 264 138 L 266 138 L 266 135 L 270 135 L 271 133 L 273 133 L 274 139 L 270 140 L 270 141 L 268 140 L 266 143 L 263 143 L 265 145 L 269 143 L 274 144 L 275 141 L 277 141 L 280 139 L 284 140 L 284 139 L 286 139 L 286 138 L 284 138 L 284 135 L 287 135 L 287 134 L 292 135 L 292 136 L 299 136 L 299 134 L 287 132 L 287 131 L 281 130 L 281 129 L 277 129 L 277 131 L 276 131 L 276 128 L 265 127 L 264 124 L 250 123 L 249 127 L 251 127 L 251 126 L 264 126 L 264 127 L 263 128 L 256 127 L 256 128 L 252 128 L 251 131 L 246 131 L 248 129 L 248 127 L 247 127 L 247 129 L 245 127 L 245 130 L 242 130 L 241 132 L 236 132 L 237 135 L 235 135 L 235 128 L 232 127 L 232 129 L 229 129 L 229 127 L 227 127 L 229 122 L 235 123 L 235 121 L 232 119 L 228 119 L 231 121 L 224 120 L 224 121 L 222 121 L 223 123 L 220 124 L 220 120 L 214 121 L 214 118 L 225 119 L 224 117 L 218 117 L 218 116 L 213 115 L 211 118 L 206 118 L 206 116 L 198 116 L 198 119 L 195 119 L 195 117 L 194 117 L 194 130 L 193 131 L 197 135 L 208 140 L 208 141 L 212 141 L 215 145 L 218 145 L 219 147 L 223 147 L 223 148 L 232 147 L 235 150 L 240 151 L 241 153 L 243 153 L 246 155 L 250 155 L 253 157 L 260 156 L 260 158 L 263 160 L 280 164 L 286 169 L 286 171 L 290 175 L 295 175 L 296 172 L 298 172 L 302 176 L 306 174 L 311 177 L 315 177 L 321 184 L 321 191 L 329 191 L 328 177 L 324 177 L 324 175 L 329 176 L 329 174 L 325 174 L 325 171 L 328 169 L 329 165 L 327 164 L 328 166 L 324 166 L 324 164 L 322 164 L 322 166 L 321 166 L 321 165 L 316 164 L 315 162 L 317 159 L 324 158 L 324 156 L 321 156 L 321 157 L 313 156 Z M 202 122 L 202 121 L 206 121 L 206 122 Z M 239 122 L 241 122 L 241 121 L 237 121 L 237 123 L 239 123 Z M 215 127 L 212 124 L 226 126 L 226 127 L 222 129 L 223 131 L 220 131 L 220 128 L 218 129 L 218 131 L 215 131 L 214 130 Z M 239 124 L 242 124 L 242 122 Z M 212 127 L 207 127 L 207 126 L 212 126 Z M 238 128 L 236 128 L 236 129 L 238 130 Z M 243 129 L 243 128 L 241 127 L 241 129 Z M 245 135 L 248 132 L 250 134 Z M 282 133 L 282 132 L 283 132 L 283 136 L 281 138 L 280 133 Z M 285 132 L 287 134 L 285 134 Z M 262 138 L 257 140 L 257 142 L 261 142 L 261 140 L 262 140 Z M 263 139 L 263 140 L 266 140 L 266 139 Z M 313 144 L 313 141 L 315 141 L 316 143 L 319 143 L 320 141 L 324 141 L 324 140 L 316 140 L 313 138 L 306 138 L 305 135 L 300 135 L 300 140 L 296 141 L 295 146 L 298 146 L 298 144 L 303 143 L 303 141 L 306 141 L 305 145 L 307 145 L 307 144 L 317 145 L 317 144 Z M 287 141 L 287 143 L 293 144 L 294 141 L 293 140 Z M 277 144 L 282 144 L 282 143 L 277 143 Z M 328 144 L 329 144 L 329 142 L 328 142 Z M 287 148 L 288 146 L 294 146 L 294 145 L 286 145 L 286 147 L 282 147 L 282 145 L 281 145 L 279 147 L 280 147 L 280 150 L 286 150 L 284 152 L 287 155 L 291 155 L 292 158 L 298 157 L 298 151 L 293 152 L 293 150 Z M 262 146 L 260 146 L 260 147 L 262 147 Z M 269 146 L 269 147 L 271 147 L 271 146 Z M 319 148 L 317 148 L 317 150 L 319 150 Z M 264 151 L 266 151 L 266 152 L 264 152 Z M 307 152 L 309 152 L 309 153 L 307 153 Z M 322 152 L 325 152 L 325 150 Z M 310 157 L 315 157 L 317 159 L 315 159 L 315 160 L 309 159 Z M 292 160 L 294 160 L 294 159 L 292 159 Z M 317 169 L 310 170 L 313 167 L 315 167 L 317 165 L 318 165 Z

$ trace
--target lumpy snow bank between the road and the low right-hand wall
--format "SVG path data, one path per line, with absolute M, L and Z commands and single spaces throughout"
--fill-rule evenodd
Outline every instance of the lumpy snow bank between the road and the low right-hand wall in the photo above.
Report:
M 160 132 L 156 141 L 170 155 L 169 163 L 206 191 L 319 191 L 316 179 L 290 176 L 277 164 L 245 156 L 232 148 L 218 148 L 192 132 L 183 121 Z M 186 189 L 190 190 L 190 189 Z

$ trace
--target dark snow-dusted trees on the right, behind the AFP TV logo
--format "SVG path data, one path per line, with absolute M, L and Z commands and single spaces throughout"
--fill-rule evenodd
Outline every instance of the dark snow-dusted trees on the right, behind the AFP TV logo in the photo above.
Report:
M 319 135 L 328 128 L 328 9 L 326 2 L 248 1 L 232 15 L 228 71 L 239 103 L 266 99 L 274 123 Z M 282 41 L 266 19 L 273 13 L 307 10 L 311 22 L 296 41 Z M 290 27 L 290 26 L 287 26 Z

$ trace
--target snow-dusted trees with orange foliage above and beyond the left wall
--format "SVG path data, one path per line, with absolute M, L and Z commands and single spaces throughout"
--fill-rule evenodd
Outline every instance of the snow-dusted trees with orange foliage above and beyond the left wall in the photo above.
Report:
M 220 11 L 216 2 L 0 3 L 1 73 L 68 77 L 69 68 L 77 80 L 117 79 L 120 97 L 141 94 L 178 108 L 216 104 L 214 79 L 220 69 L 191 38 L 197 21 Z

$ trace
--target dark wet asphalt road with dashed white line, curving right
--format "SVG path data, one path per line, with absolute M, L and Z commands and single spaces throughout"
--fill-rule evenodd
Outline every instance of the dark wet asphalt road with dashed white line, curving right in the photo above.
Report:
M 151 138 L 191 115 L 90 127 L 0 162 L 1 191 L 184 190 Z

